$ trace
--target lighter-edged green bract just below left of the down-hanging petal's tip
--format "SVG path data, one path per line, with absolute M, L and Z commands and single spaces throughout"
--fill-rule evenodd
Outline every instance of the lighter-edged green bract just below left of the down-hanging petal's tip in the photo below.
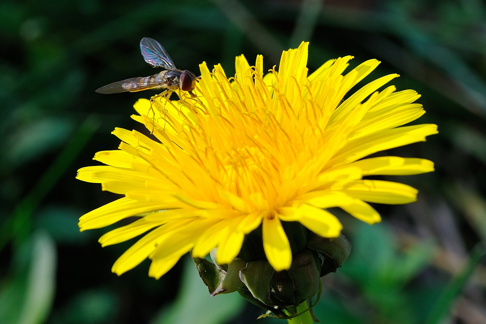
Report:
M 270 280 L 275 270 L 267 260 L 248 262 L 240 271 L 240 279 L 253 297 L 263 304 L 270 302 Z

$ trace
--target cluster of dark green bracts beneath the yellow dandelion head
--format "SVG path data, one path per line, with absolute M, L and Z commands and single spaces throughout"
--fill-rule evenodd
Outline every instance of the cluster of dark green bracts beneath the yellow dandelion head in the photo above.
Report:
M 238 291 L 243 298 L 277 316 L 295 314 L 296 307 L 312 298 L 319 289 L 320 277 L 336 272 L 351 252 L 343 236 L 323 238 L 298 222 L 282 222 L 292 250 L 288 270 L 276 272 L 265 257 L 261 225 L 245 236 L 243 246 L 229 265 L 216 264 L 217 249 L 211 259 L 195 258 L 197 270 L 214 296 Z

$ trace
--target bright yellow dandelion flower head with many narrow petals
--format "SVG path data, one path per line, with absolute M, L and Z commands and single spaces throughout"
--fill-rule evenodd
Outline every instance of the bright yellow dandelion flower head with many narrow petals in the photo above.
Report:
M 430 172 L 431 161 L 361 158 L 437 133 L 433 124 L 398 127 L 424 114 L 412 103 L 417 92 L 395 92 L 393 85 L 376 91 L 398 77 L 390 74 L 343 102 L 380 62 L 366 61 L 343 76 L 352 58 L 346 56 L 308 76 L 307 53 L 304 42 L 284 51 L 278 71 L 266 75 L 261 55 L 254 67 L 241 55 L 229 79 L 221 65 L 211 73 L 203 62 L 197 98 L 181 93 L 179 101 L 156 99 L 154 117 L 148 100 L 135 103 L 140 116 L 132 118 L 157 140 L 116 128 L 120 150 L 96 153 L 94 159 L 107 166 L 82 168 L 77 176 L 125 195 L 82 216 L 82 231 L 140 217 L 103 235 L 103 246 L 153 229 L 115 262 L 113 272 L 124 273 L 149 257 L 149 275 L 159 278 L 188 251 L 204 257 L 214 247 L 217 262 L 230 263 L 244 235 L 260 224 L 268 261 L 281 271 L 292 262 L 281 221 L 332 238 L 342 225 L 324 208 L 341 207 L 372 224 L 380 215 L 365 202 L 416 200 L 415 188 L 362 177 Z

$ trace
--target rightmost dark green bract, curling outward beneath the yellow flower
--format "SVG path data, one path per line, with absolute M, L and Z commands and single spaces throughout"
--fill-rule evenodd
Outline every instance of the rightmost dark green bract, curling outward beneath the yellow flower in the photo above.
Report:
M 311 231 L 307 234 L 307 247 L 324 256 L 320 276 L 336 272 L 351 253 L 351 243 L 344 235 L 337 238 L 323 238 Z

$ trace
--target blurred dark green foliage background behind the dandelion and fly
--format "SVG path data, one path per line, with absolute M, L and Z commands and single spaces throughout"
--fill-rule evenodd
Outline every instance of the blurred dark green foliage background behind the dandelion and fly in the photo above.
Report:
M 364 82 L 400 73 L 398 90 L 417 90 L 427 110 L 414 123 L 440 133 L 381 154 L 428 158 L 436 171 L 380 177 L 420 190 L 417 203 L 376 205 L 380 224 L 334 211 L 353 250 L 323 278 L 315 313 L 328 324 L 486 323 L 483 1 L 2 0 L 0 324 L 279 322 L 257 321 L 264 310 L 236 293 L 209 297 L 190 257 L 160 280 L 148 261 L 118 277 L 111 266 L 133 240 L 101 248 L 111 228 L 78 230 L 82 214 L 117 195 L 76 170 L 117 148 L 114 127 L 142 131 L 132 105 L 155 94 L 94 90 L 155 73 L 140 55 L 144 36 L 197 72 L 206 61 L 232 75 L 241 53 L 271 68 L 310 40 L 311 71 L 351 54 L 351 67 L 382 61 Z

